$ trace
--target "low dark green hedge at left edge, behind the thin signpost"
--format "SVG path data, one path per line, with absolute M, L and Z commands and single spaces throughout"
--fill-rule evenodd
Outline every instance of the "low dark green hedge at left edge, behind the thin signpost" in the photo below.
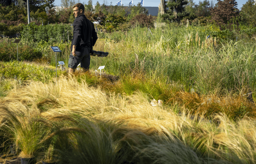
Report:
M 33 61 L 42 57 L 40 51 L 36 51 L 29 46 L 23 46 L 18 49 L 19 61 L 27 60 Z M 0 45 L 0 61 L 11 61 L 17 60 L 17 49 L 16 47 L 10 47 L 7 43 Z

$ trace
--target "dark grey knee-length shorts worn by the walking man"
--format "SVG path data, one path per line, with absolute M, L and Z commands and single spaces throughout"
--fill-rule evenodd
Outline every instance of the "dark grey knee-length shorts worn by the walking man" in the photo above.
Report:
M 90 68 L 90 48 L 84 47 L 75 52 L 77 56 L 73 56 L 72 52 L 69 55 L 69 68 L 76 69 L 77 65 L 81 63 L 80 67 L 89 69 Z

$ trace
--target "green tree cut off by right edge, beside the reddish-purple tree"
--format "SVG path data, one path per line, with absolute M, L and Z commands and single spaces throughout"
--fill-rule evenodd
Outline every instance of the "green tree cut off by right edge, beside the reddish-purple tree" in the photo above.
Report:
M 248 0 L 242 7 L 240 15 L 242 17 L 243 23 L 249 25 L 250 27 L 256 26 L 256 4 L 255 1 Z

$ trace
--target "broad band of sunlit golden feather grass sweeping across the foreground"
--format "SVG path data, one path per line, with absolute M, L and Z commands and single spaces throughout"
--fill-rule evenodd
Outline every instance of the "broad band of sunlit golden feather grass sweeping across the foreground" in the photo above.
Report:
M 179 95 L 189 97 L 185 92 Z M 203 98 L 193 95 L 198 104 L 203 102 Z M 47 110 L 42 111 L 38 105 L 43 105 L 39 102 L 46 98 L 53 100 L 56 105 L 46 105 Z M 186 101 L 189 104 L 191 100 Z M 27 111 L 26 115 L 40 113 L 40 116 L 51 121 L 69 120 L 73 113 L 91 120 L 121 124 L 127 132 L 137 130 L 164 140 L 179 139 L 184 145 L 206 157 L 233 162 L 240 160 L 242 163 L 256 162 L 254 118 L 234 122 L 225 115 L 216 115 L 213 117 L 220 123 L 217 125 L 210 123 L 203 115 L 199 118 L 198 112 L 192 115 L 185 108 L 186 105 L 181 106 L 182 113 L 177 114 L 169 107 L 151 106 L 148 96 L 143 93 L 131 96 L 106 95 L 100 88 L 88 87 L 84 81 L 78 83 L 74 77 L 60 77 L 57 83 L 31 82 L 30 85 L 14 88 L 7 97 L 1 98 L 1 106 L 3 105 L 17 112 Z M 131 136 L 127 134 L 126 137 Z

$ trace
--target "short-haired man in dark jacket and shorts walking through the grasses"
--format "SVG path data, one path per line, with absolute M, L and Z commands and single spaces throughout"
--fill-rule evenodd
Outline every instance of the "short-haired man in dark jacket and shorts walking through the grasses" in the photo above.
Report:
M 84 5 L 77 3 L 73 6 L 73 10 L 75 20 L 68 63 L 69 73 L 75 72 L 79 63 L 81 63 L 80 67 L 84 71 L 89 71 L 90 53 L 93 53 L 93 46 L 98 39 L 93 23 L 84 15 Z

